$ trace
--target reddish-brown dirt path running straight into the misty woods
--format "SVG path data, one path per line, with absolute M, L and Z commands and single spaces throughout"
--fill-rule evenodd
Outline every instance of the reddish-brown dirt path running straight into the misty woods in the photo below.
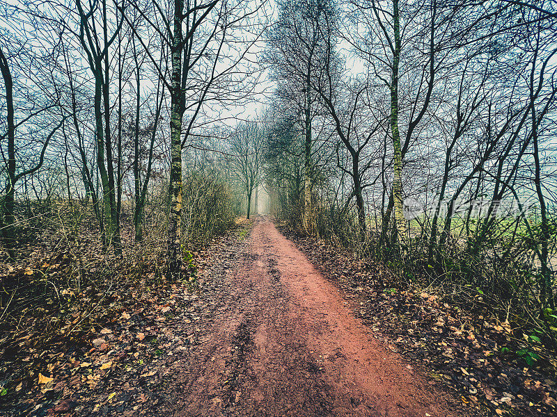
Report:
M 457 415 L 267 218 L 224 252 L 210 324 L 173 364 L 173 394 L 153 414 Z

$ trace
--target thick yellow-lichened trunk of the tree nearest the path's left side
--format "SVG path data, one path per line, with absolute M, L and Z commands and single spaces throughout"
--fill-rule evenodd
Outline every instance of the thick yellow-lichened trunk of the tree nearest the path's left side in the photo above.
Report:
M 170 212 L 168 213 L 168 268 L 166 277 L 180 279 L 182 267 L 182 12 L 183 0 L 174 2 L 174 36 L 172 40 L 172 92 L 171 92 L 171 170 Z

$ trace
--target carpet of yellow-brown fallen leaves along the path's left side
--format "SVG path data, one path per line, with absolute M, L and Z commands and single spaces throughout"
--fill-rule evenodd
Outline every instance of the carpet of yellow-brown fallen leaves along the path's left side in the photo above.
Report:
M 199 277 L 217 263 L 217 251 L 238 236 L 233 229 L 194 252 Z M 57 254 L 31 268 L 10 268 L 1 278 L 40 281 L 45 270 L 70 274 L 71 265 L 83 261 Z M 133 265 L 133 275 L 119 266 L 114 268 L 120 281 L 111 291 L 65 289 L 61 296 L 73 300 L 66 304 L 68 311 L 54 314 L 49 309 L 54 302 L 36 311 L 29 307 L 18 327 L 3 329 L 1 416 L 150 415 L 152 406 L 162 402 L 171 364 L 198 344 L 196 334 L 210 306 L 199 295 L 203 288 L 164 281 L 160 261 L 143 259 Z M 89 272 L 102 267 L 98 259 L 91 261 Z M 92 302 L 95 309 L 89 307 Z M 49 325 L 51 319 L 56 326 Z

